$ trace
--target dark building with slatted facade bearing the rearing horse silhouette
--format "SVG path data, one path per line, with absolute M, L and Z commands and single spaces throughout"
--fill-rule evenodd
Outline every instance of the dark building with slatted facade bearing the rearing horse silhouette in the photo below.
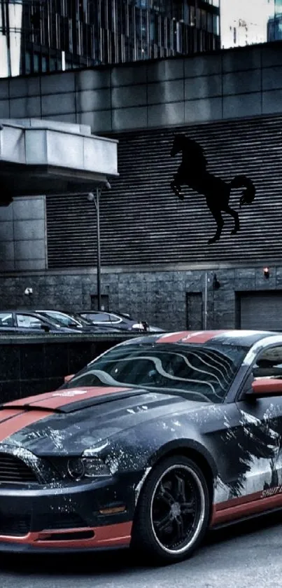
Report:
M 168 329 L 282 331 L 281 95 L 282 42 L 263 43 L 1 80 L 0 118 L 118 139 L 120 176 L 101 193 L 106 308 Z M 175 149 L 177 135 L 188 141 Z M 180 199 L 171 182 L 182 160 Z M 1 207 L 1 306 L 22 306 L 31 287 L 34 304 L 89 309 L 95 207 L 81 193 L 40 193 Z

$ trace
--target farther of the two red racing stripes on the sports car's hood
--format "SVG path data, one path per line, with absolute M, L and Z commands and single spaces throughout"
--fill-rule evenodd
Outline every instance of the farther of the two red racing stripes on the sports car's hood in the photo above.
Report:
M 7 407 L 18 406 L 32 406 L 34 411 L 36 408 L 41 409 L 60 409 L 67 404 L 73 404 L 90 398 L 97 398 L 101 396 L 108 396 L 115 394 L 115 392 L 127 392 L 131 388 L 120 388 L 114 386 L 81 386 L 81 388 L 65 388 L 57 390 L 57 392 L 47 392 L 46 394 L 30 396 L 29 398 L 22 398 L 6 404 Z

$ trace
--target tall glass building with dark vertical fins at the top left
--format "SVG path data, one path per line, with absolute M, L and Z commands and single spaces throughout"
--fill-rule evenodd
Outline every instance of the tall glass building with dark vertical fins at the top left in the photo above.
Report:
M 219 0 L 0 0 L 0 76 L 220 48 Z

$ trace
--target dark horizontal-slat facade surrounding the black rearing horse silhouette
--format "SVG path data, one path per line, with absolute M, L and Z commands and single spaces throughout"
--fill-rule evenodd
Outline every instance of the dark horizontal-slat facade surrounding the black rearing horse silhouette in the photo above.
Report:
M 281 128 L 279 115 L 115 135 L 120 177 L 101 196 L 102 264 L 244 265 L 282 259 Z M 204 196 L 185 186 L 181 202 L 171 191 L 181 163 L 181 156 L 169 156 L 174 132 L 202 145 L 209 172 L 227 182 L 241 174 L 254 182 L 255 200 L 241 210 L 241 189 L 232 190 L 230 205 L 241 221 L 237 235 L 230 235 L 233 221 L 224 214 L 220 241 L 208 245 L 216 223 Z M 48 196 L 46 207 L 49 268 L 95 265 L 94 205 L 85 196 Z

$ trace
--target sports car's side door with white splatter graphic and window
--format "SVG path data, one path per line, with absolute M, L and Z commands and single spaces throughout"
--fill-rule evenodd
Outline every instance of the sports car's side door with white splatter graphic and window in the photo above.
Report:
M 282 492 L 282 395 L 248 397 L 253 378 L 282 378 L 282 345 L 270 345 L 255 358 L 245 390 L 237 402 L 241 428 L 238 442 L 248 462 L 246 495 Z M 282 496 L 281 496 L 282 505 Z

